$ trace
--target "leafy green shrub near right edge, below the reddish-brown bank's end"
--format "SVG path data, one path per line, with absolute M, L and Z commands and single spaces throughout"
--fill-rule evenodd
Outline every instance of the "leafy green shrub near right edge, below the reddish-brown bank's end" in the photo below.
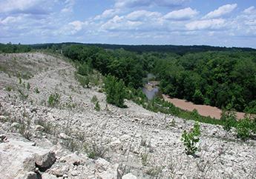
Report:
M 245 141 L 250 136 L 250 128 L 252 123 L 249 118 L 243 118 L 237 124 L 237 138 Z

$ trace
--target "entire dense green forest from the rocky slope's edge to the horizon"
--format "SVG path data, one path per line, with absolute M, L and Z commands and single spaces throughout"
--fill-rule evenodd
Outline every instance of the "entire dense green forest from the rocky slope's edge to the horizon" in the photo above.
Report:
M 0 52 L 3 53 L 38 49 L 63 53 L 83 66 L 99 70 L 103 75 L 122 79 L 127 87 L 142 87 L 143 78 L 152 72 L 160 81 L 161 91 L 171 97 L 256 113 L 254 49 L 171 45 L 93 46 L 73 43 L 0 44 Z

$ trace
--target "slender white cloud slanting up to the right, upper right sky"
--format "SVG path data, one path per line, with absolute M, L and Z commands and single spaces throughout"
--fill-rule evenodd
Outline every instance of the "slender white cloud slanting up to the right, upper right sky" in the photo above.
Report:
M 223 5 L 217 10 L 211 11 L 210 13 L 206 14 L 203 18 L 219 18 L 226 14 L 232 13 L 232 11 L 237 7 L 237 4 L 226 4 Z

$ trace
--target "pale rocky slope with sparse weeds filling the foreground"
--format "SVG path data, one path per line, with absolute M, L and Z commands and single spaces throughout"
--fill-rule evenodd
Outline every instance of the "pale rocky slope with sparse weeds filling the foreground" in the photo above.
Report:
M 256 178 L 255 141 L 200 124 L 197 157 L 186 155 L 193 121 L 106 104 L 62 56 L 0 54 L 0 67 L 0 178 Z

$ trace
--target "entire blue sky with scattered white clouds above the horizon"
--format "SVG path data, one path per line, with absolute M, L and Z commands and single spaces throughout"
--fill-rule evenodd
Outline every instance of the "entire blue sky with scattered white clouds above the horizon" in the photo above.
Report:
M 256 48 L 255 0 L 0 0 L 0 42 Z

